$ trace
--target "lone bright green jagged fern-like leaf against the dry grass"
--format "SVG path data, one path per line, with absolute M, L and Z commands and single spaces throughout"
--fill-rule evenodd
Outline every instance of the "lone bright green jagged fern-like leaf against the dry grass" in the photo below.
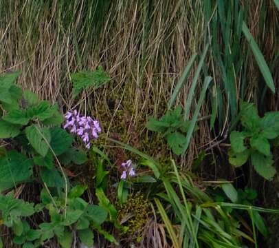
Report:
M 87 88 L 93 88 L 96 90 L 98 87 L 108 83 L 111 80 L 109 74 L 104 72 L 102 67 L 98 67 L 97 70 L 91 72 L 76 72 L 71 74 L 71 81 L 73 83 L 73 96 L 78 94 Z

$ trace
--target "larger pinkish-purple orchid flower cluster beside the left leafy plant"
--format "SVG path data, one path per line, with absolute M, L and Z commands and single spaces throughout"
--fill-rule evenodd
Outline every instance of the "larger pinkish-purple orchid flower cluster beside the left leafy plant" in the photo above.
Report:
M 91 147 L 91 141 L 97 139 L 101 132 L 100 123 L 93 120 L 89 116 L 80 116 L 80 114 L 74 110 L 65 114 L 66 123 L 64 129 L 68 129 L 69 132 L 77 134 L 85 143 L 85 147 L 89 149 Z

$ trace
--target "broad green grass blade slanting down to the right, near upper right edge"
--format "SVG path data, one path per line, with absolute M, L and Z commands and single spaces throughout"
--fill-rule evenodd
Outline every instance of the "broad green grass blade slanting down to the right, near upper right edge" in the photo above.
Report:
M 242 24 L 242 31 L 255 56 L 255 59 L 258 63 L 258 67 L 260 68 L 260 72 L 263 74 L 265 83 L 267 83 L 267 86 L 270 88 L 270 90 L 275 93 L 274 80 L 272 79 L 272 75 L 267 65 L 267 62 L 265 61 L 263 54 L 260 52 L 260 48 L 258 48 L 258 44 L 254 40 L 254 37 L 252 36 L 251 32 L 249 31 L 249 28 L 247 27 L 244 21 Z

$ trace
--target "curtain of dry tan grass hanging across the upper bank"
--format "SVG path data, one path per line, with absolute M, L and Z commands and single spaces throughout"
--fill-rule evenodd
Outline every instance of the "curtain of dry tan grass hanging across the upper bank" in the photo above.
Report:
M 37 92 L 41 98 L 58 101 L 65 109 L 78 106 L 97 116 L 109 135 L 119 133 L 122 141 L 149 154 L 166 154 L 164 148 L 158 151 L 157 136 L 147 136 L 144 123 L 147 116 L 161 116 L 166 110 L 166 103 L 190 56 L 203 50 L 205 34 L 216 12 L 216 1 L 210 2 L 212 8 L 207 13 L 205 2 L 201 0 L 1 0 L 0 72 L 21 70 L 21 85 Z M 242 2 L 252 34 L 256 35 L 275 71 L 278 12 L 271 0 Z M 223 48 L 220 46 L 220 49 Z M 260 75 L 251 61 L 250 52 L 240 70 L 242 75 L 247 74 L 246 88 L 251 89 L 244 96 L 260 100 L 255 83 Z M 92 70 L 98 65 L 109 71 L 111 83 L 96 92 L 84 92 L 78 100 L 71 99 L 69 73 Z M 194 68 L 177 103 L 183 104 L 188 95 Z M 218 86 L 220 72 L 210 54 L 205 71 L 214 76 L 214 84 Z M 277 72 L 274 79 L 278 85 Z M 236 75 L 236 81 L 241 80 L 241 75 Z M 197 92 L 201 90 L 201 83 L 200 80 Z M 212 112 L 210 94 L 201 116 Z M 197 99 L 199 94 L 194 103 Z M 265 99 L 267 97 L 262 101 Z M 278 98 L 269 101 L 270 106 L 275 107 Z M 211 132 L 208 122 L 199 123 L 199 131 L 181 165 L 189 167 L 200 149 L 210 147 L 215 138 L 224 136 L 226 122 L 230 121 L 228 104 L 224 96 L 224 114 L 219 116 L 223 124 L 219 130 Z

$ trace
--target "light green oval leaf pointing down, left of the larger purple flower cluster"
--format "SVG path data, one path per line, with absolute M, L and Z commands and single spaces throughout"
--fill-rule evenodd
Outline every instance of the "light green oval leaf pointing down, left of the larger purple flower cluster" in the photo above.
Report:
M 28 141 L 32 147 L 34 147 L 36 152 L 43 157 L 46 156 L 49 150 L 49 143 L 51 141 L 51 134 L 49 130 L 33 124 L 26 127 L 25 133 Z

